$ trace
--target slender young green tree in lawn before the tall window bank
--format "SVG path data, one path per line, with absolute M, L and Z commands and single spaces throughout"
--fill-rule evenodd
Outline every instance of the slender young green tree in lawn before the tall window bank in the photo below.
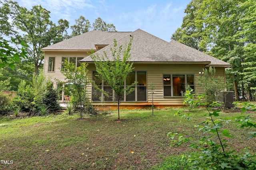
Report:
M 125 44 L 124 49 L 122 49 L 122 45 L 117 49 L 117 42 L 114 39 L 114 47 L 110 49 L 112 52 L 111 57 L 108 57 L 106 53 L 103 56 L 98 56 L 98 54 L 91 55 L 98 76 L 114 90 L 115 101 L 118 102 L 118 119 L 120 119 L 119 105 L 122 100 L 121 97 L 124 95 L 124 92 L 128 95 L 134 91 L 135 89 L 132 86 L 137 84 L 137 82 L 134 82 L 130 86 L 124 87 L 124 81 L 133 69 L 133 63 L 130 62 L 132 39 L 133 37 L 128 45 Z

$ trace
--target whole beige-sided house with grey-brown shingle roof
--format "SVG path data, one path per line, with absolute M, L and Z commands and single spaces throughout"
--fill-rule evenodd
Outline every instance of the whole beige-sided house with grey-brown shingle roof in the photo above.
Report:
M 225 68 L 229 67 L 230 64 L 177 41 L 164 41 L 141 29 L 133 32 L 94 30 L 45 47 L 42 49 L 45 53 L 44 74 L 51 76 L 55 88 L 65 86 L 65 84 L 58 84 L 56 81 L 56 79 L 64 81 L 65 78 L 60 72 L 62 61 L 68 59 L 69 62 L 73 62 L 77 66 L 80 65 L 79 61 L 86 62 L 91 80 L 94 80 L 99 88 L 114 96 L 111 88 L 96 78 L 96 68 L 88 52 L 93 49 L 99 56 L 106 52 L 110 57 L 110 48 L 114 47 L 113 39 L 117 40 L 119 47 L 128 43 L 131 35 L 134 38 L 130 51 L 130 61 L 134 63 L 134 69 L 124 85 L 129 85 L 134 81 L 137 81 L 138 84 L 134 87 L 136 89 L 134 92 L 124 96 L 120 107 L 150 107 L 152 104 L 149 95 L 150 82 L 155 86 L 155 106 L 180 106 L 183 103 L 181 91 L 184 91 L 186 85 L 193 88 L 196 93 L 201 92 L 201 88 L 197 84 L 198 76 L 202 76 L 203 68 L 210 66 L 216 68 L 216 76 L 223 76 L 225 80 Z M 113 97 L 104 97 L 93 86 L 88 86 L 87 90 L 93 105 L 112 106 L 116 104 Z M 62 92 L 60 102 L 69 100 L 64 93 Z

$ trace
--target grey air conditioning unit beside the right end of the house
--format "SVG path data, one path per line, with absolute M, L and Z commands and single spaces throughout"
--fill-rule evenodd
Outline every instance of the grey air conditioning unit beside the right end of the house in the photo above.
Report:
M 223 102 L 221 107 L 234 107 L 234 91 L 223 91 L 216 97 L 218 101 Z

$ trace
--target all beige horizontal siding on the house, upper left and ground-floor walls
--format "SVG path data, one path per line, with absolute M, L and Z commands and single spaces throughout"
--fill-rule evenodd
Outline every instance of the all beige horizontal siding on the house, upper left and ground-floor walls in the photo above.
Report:
M 49 57 L 56 57 L 55 61 L 55 71 L 48 72 L 48 59 Z M 65 77 L 61 74 L 61 60 L 62 57 L 86 57 L 88 56 L 85 52 L 65 52 L 62 55 L 54 52 L 47 52 L 44 64 L 44 73 L 46 76 L 50 76 L 51 80 L 54 82 L 54 87 L 57 87 L 56 79 L 65 81 Z M 148 89 L 148 100 L 147 102 L 122 102 L 123 106 L 139 106 L 139 105 L 151 105 L 150 100 L 150 82 L 153 82 L 155 86 L 154 90 L 154 105 L 156 106 L 177 106 L 182 105 L 182 97 L 164 97 L 163 95 L 163 74 L 194 74 L 194 85 L 196 93 L 201 93 L 202 88 L 198 85 L 197 80 L 200 76 L 199 72 L 202 72 L 204 64 L 133 64 L 133 71 L 146 71 L 147 72 L 147 89 Z M 93 63 L 88 64 L 88 74 L 90 80 L 92 80 L 92 71 L 96 68 Z M 216 76 L 225 76 L 223 67 L 216 67 Z M 92 98 L 92 85 L 87 87 L 88 97 Z M 93 105 L 116 105 L 114 102 L 93 102 Z

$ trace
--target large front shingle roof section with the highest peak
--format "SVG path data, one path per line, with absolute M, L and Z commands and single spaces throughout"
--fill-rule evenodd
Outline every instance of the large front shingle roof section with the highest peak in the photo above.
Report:
M 200 62 L 200 63 L 211 63 L 212 65 L 226 65 L 230 64 L 220 61 L 214 57 L 201 53 L 186 45 L 178 43 L 172 40 L 170 43 L 164 41 L 150 33 L 147 33 L 141 29 L 124 36 L 122 39 L 117 40 L 118 47 L 129 43 L 130 35 L 133 35 L 132 47 L 131 47 L 131 58 L 132 62 Z M 114 44 L 104 47 L 103 49 L 96 51 L 99 56 L 104 55 L 106 52 L 108 58 L 111 60 L 110 48 L 113 48 Z M 92 62 L 90 56 L 82 59 L 81 61 Z

